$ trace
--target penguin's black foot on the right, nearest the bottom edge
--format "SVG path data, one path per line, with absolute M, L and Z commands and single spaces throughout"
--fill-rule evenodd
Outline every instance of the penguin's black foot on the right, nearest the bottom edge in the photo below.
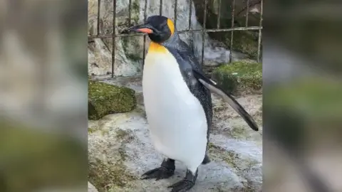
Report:
M 178 181 L 177 183 L 172 184 L 171 186 L 168 186 L 167 188 L 172 188 L 171 192 L 184 192 L 188 191 L 190 188 L 195 186 L 195 182 L 197 179 L 197 172 L 193 175 L 190 170 L 187 170 L 187 174 L 185 178 L 183 178 L 182 181 Z

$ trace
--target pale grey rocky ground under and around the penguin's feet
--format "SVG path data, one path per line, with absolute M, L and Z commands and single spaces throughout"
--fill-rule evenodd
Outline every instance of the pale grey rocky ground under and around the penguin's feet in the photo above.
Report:
M 107 80 L 113 85 L 135 87 L 142 96 L 141 80 Z M 212 95 L 214 126 L 211 130 L 207 165 L 199 167 L 191 191 L 261 191 L 262 135 L 254 132 L 227 103 Z M 261 97 L 239 98 L 239 102 L 261 124 Z M 142 100 L 131 112 L 108 114 L 89 120 L 89 179 L 99 191 L 167 191 L 167 186 L 185 176 L 185 166 L 176 161 L 175 176 L 160 181 L 140 180 L 145 171 L 160 166 L 162 156 L 150 142 Z M 229 121 L 227 121 L 229 118 Z

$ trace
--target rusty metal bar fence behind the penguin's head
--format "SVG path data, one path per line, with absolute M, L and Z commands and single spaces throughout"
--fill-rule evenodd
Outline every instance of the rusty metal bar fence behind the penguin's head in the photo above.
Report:
M 170 1 L 170 0 L 168 0 Z M 174 23 L 176 26 L 177 23 L 177 1 L 175 1 L 175 19 Z M 246 24 L 244 27 L 234 27 L 234 14 L 235 14 L 235 0 L 232 0 L 232 25 L 231 28 L 220 28 L 220 17 L 221 17 L 221 1 L 224 0 L 218 0 L 218 15 L 217 15 L 217 28 L 213 29 L 207 29 L 206 28 L 206 21 L 207 21 L 207 2 L 208 0 L 203 0 L 204 3 L 204 18 L 203 18 L 203 26 L 201 30 L 194 30 L 191 29 L 191 16 L 192 16 L 192 0 L 190 0 L 190 13 L 189 13 L 189 28 L 187 30 L 177 31 L 177 33 L 202 33 L 202 54 L 201 54 L 201 63 L 203 65 L 204 61 L 204 34 L 205 33 L 212 33 L 212 32 L 231 32 L 230 36 L 230 45 L 229 50 L 233 50 L 233 38 L 234 38 L 234 31 L 259 31 L 258 33 L 258 52 L 257 52 L 257 61 L 260 61 L 260 50 L 261 50 L 261 29 L 262 29 L 262 14 L 263 14 L 263 0 L 260 1 L 260 19 L 259 19 L 259 26 L 248 26 L 248 18 L 249 18 L 249 7 L 251 6 L 249 4 L 250 0 L 247 0 L 246 5 Z M 112 34 L 100 34 L 100 3 L 101 0 L 98 0 L 98 21 L 97 21 L 97 35 L 95 36 L 88 36 L 88 41 L 91 41 L 94 38 L 112 38 L 113 40 L 113 47 L 112 47 L 112 78 L 114 78 L 114 70 L 115 70 L 115 38 L 119 37 L 127 37 L 127 36 L 144 36 L 144 43 L 143 43 L 143 53 L 142 53 L 142 65 L 145 62 L 145 50 L 146 50 L 146 34 L 142 33 L 135 33 L 135 34 L 116 34 L 115 27 L 116 27 L 116 0 L 113 0 L 113 32 Z M 128 18 L 128 26 L 131 26 L 131 11 L 132 11 L 132 0 L 129 0 L 129 18 Z M 160 0 L 160 15 L 162 15 L 162 0 Z M 145 0 L 145 8 L 144 8 L 144 21 L 147 19 L 147 0 Z M 229 63 L 232 62 L 232 54 L 229 54 Z

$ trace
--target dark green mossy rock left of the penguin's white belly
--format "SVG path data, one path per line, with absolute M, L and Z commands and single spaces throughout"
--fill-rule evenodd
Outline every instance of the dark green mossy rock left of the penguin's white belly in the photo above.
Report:
M 97 120 L 106 114 L 129 112 L 136 105 L 134 90 L 105 82 L 88 81 L 88 119 Z

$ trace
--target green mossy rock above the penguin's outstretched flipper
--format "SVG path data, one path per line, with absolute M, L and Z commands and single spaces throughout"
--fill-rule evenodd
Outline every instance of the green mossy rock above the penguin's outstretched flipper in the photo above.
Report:
M 212 72 L 212 79 L 233 95 L 262 94 L 262 64 L 238 61 L 221 65 Z

